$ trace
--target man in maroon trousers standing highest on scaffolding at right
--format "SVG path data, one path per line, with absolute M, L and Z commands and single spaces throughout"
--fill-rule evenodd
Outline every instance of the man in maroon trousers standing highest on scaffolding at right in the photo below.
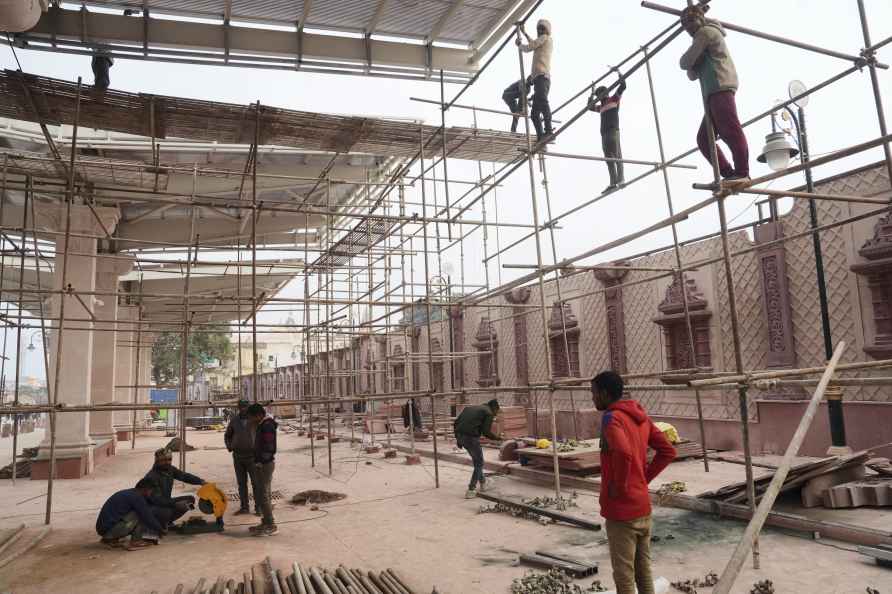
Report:
M 745 183 L 750 175 L 749 147 L 740 118 L 737 117 L 734 99 L 738 87 L 737 70 L 725 44 L 725 30 L 718 22 L 707 20 L 700 6 L 685 8 L 681 13 L 681 24 L 694 40 L 682 54 L 679 65 L 687 71 L 689 79 L 700 81 L 716 140 L 725 141 L 734 159 L 732 167 L 721 147 L 716 145 L 719 173 L 725 181 Z M 697 132 L 697 146 L 703 156 L 712 162 L 705 116 Z

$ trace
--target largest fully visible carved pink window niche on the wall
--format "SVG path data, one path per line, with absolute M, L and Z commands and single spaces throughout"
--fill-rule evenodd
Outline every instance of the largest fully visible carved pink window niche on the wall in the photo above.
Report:
M 666 289 L 666 296 L 658 306 L 661 314 L 654 318 L 654 323 L 663 328 L 666 341 L 666 366 L 669 370 L 690 369 L 692 367 L 712 367 L 712 351 L 709 342 L 709 318 L 712 312 L 707 310 L 707 301 L 697 288 L 696 281 L 687 277 L 685 293 L 688 300 L 688 311 L 691 315 L 691 329 L 694 335 L 694 356 L 691 360 L 691 346 L 685 320 L 684 301 L 681 293 L 681 275 Z

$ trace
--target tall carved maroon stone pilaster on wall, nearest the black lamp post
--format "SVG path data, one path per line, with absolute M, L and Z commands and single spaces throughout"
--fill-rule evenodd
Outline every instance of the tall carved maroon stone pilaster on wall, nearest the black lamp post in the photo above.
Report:
M 755 228 L 754 234 L 757 244 L 775 241 L 784 236 L 783 223 L 764 223 Z M 762 311 L 768 328 L 768 367 L 793 367 L 796 350 L 793 345 L 786 250 L 781 244 L 772 245 L 760 249 L 758 258 Z

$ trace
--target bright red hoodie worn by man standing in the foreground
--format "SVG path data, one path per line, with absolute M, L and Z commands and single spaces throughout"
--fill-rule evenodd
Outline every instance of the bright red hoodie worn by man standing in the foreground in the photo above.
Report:
M 647 463 L 647 447 L 656 450 Z M 675 448 L 635 400 L 614 402 L 601 417 L 601 515 L 628 521 L 649 516 L 647 484 L 675 458 Z

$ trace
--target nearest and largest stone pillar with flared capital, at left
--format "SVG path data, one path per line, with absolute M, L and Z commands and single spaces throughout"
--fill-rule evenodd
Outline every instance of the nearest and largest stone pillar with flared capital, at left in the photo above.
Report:
M 84 235 L 101 235 L 102 226 L 96 217 L 101 217 L 108 229 L 113 229 L 118 220 L 118 210 L 97 208 L 95 212 L 86 206 L 71 207 L 71 232 Z M 66 208 L 64 205 L 42 207 L 37 212 L 38 226 L 65 231 Z M 56 261 L 54 266 L 53 289 L 70 288 L 77 294 L 53 295 L 51 317 L 59 317 L 62 299 L 65 299 L 65 320 L 62 323 L 62 340 L 59 360 L 59 389 L 54 395 L 56 402 L 65 406 L 90 404 L 93 371 L 93 315 L 97 297 L 83 294 L 96 289 L 96 239 L 71 236 L 68 240 L 67 265 L 63 266 L 63 252 L 66 240 L 56 236 Z M 62 283 L 65 268 L 65 287 Z M 102 300 L 102 299 L 99 299 Z M 86 321 L 83 321 L 86 320 Z M 58 322 L 54 322 L 58 324 Z M 59 333 L 50 336 L 49 362 L 50 386 L 55 386 L 56 353 Z M 52 387 L 50 388 L 52 390 Z M 62 413 L 56 417 L 56 477 L 79 478 L 93 470 L 94 442 L 90 438 L 90 413 Z M 50 436 L 41 442 L 37 458 L 31 466 L 31 478 L 45 479 L 49 476 Z

